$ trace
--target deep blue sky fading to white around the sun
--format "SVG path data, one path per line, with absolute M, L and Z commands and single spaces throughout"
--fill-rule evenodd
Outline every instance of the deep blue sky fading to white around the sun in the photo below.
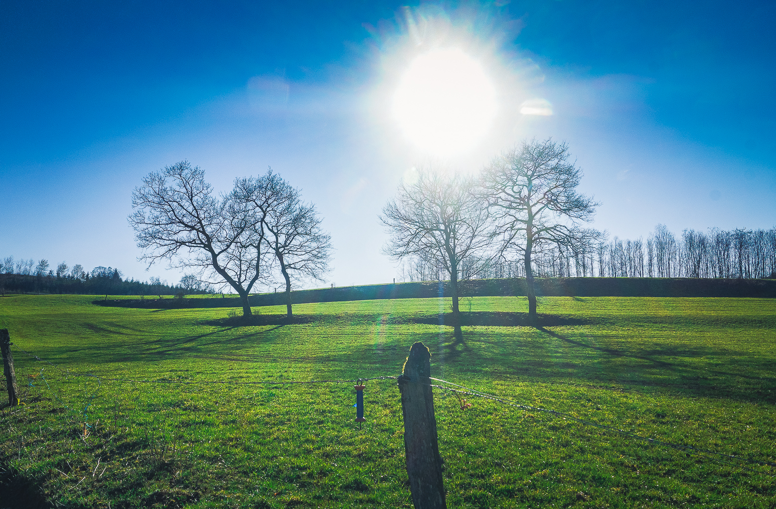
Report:
M 497 89 L 497 118 L 459 169 L 552 136 L 611 235 L 770 228 L 774 21 L 774 2 L 6 1 L 0 256 L 177 281 L 137 261 L 126 216 L 144 175 L 188 159 L 224 191 L 272 166 L 324 216 L 326 284 L 390 281 L 377 214 L 429 157 L 390 97 L 429 47 L 461 47 Z M 528 99 L 553 115 L 521 115 Z

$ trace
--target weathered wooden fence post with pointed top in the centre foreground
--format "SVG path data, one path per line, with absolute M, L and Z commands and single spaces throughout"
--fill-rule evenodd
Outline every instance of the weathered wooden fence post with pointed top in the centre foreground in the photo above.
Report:
M 418 341 L 399 377 L 407 475 L 415 509 L 446 509 L 430 376 L 431 352 Z

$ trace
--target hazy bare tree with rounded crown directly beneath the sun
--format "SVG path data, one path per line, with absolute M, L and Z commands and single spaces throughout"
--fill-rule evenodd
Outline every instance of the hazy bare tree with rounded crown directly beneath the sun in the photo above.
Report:
M 383 249 L 388 256 L 424 260 L 449 274 L 456 340 L 462 340 L 459 274 L 465 263 L 482 258 L 489 244 L 487 213 L 472 187 L 459 174 L 424 170 L 416 182 L 400 184 L 380 216 L 391 235 Z

